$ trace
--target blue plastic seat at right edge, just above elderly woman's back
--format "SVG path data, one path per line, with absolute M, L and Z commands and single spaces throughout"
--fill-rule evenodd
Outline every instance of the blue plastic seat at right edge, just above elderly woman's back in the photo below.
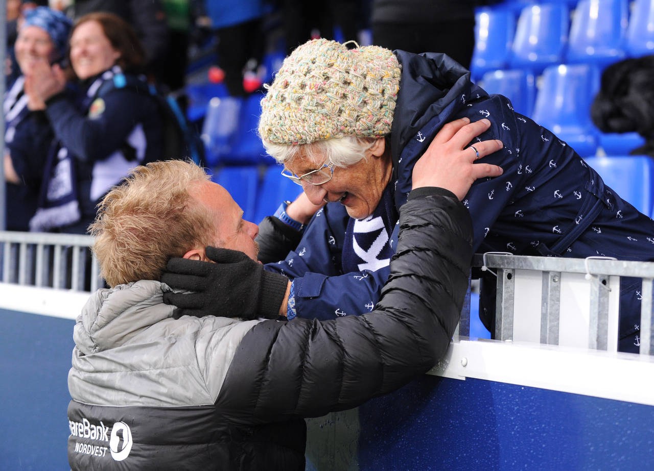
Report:
M 593 169 L 622 199 L 652 216 L 654 161 L 646 155 L 588 157 Z

